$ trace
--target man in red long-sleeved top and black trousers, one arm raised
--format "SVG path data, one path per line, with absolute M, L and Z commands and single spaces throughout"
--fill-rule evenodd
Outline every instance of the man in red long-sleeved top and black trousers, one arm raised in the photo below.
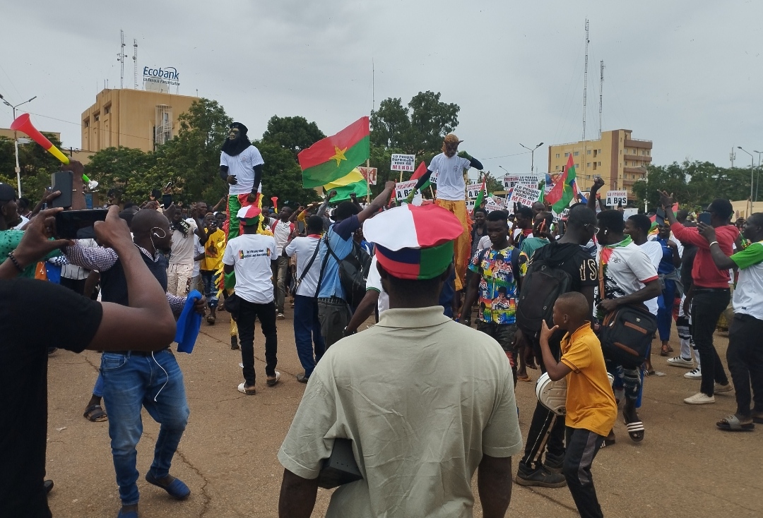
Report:
M 739 237 L 739 230 L 731 225 L 734 209 L 729 200 L 713 200 L 704 213 L 697 217 L 699 222 L 709 222 L 715 229 L 716 239 L 708 243 L 697 228 L 687 228 L 673 214 L 673 199 L 665 191 L 660 191 L 660 204 L 670 222 L 671 231 L 679 241 L 697 246 L 697 256 L 691 267 L 693 283 L 691 300 L 692 337 L 697 346 L 702 363 L 702 385 L 700 392 L 684 399 L 686 404 L 715 403 L 715 392 L 730 392 L 732 386 L 723 363 L 713 345 L 713 333 L 723 310 L 731 300 L 729 289 L 729 270 L 720 270 L 713 261 L 710 252 L 712 245 L 718 245 L 723 254 L 733 254 L 734 241 Z

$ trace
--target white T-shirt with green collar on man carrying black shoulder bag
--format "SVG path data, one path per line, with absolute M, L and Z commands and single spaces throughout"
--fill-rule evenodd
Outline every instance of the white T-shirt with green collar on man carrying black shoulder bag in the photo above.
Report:
M 601 261 L 604 247 L 599 246 L 597 261 Z M 629 243 L 612 249 L 607 267 L 604 268 L 604 296 L 602 299 L 618 299 L 636 293 L 651 280 L 657 279 L 657 268 L 649 256 L 636 245 Z M 657 309 L 649 305 L 649 312 L 657 315 Z

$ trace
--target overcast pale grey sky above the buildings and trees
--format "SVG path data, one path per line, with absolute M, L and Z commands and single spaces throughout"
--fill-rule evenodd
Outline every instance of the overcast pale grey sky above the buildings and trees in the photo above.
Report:
M 37 95 L 24 108 L 66 146 L 81 144 L 80 115 L 104 81 L 119 86 L 123 29 L 126 87 L 137 38 L 139 75 L 175 66 L 179 93 L 219 101 L 250 136 L 274 114 L 336 133 L 374 99 L 439 91 L 461 107 L 462 149 L 494 173 L 526 172 L 520 142 L 581 139 L 588 18 L 588 138 L 598 135 L 604 60 L 604 130 L 654 141 L 655 164 L 727 166 L 732 146 L 763 151 L 759 0 L 65 3 L 3 5 L 0 93 L 14 104 Z M 11 118 L 0 105 L 0 127 Z M 546 145 L 536 171 L 546 171 Z M 749 160 L 737 150 L 737 165 Z

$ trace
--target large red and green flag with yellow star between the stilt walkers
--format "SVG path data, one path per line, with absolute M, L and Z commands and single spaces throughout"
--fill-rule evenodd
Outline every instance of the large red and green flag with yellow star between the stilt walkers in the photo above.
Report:
M 346 177 L 369 159 L 369 117 L 361 117 L 336 135 L 315 142 L 297 158 L 306 189 Z

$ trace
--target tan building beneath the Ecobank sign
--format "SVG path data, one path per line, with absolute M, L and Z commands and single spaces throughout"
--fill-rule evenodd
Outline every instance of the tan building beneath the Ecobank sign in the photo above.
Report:
M 153 151 L 178 134 L 178 116 L 197 99 L 163 91 L 102 90 L 82 112 L 82 149 L 124 145 Z

